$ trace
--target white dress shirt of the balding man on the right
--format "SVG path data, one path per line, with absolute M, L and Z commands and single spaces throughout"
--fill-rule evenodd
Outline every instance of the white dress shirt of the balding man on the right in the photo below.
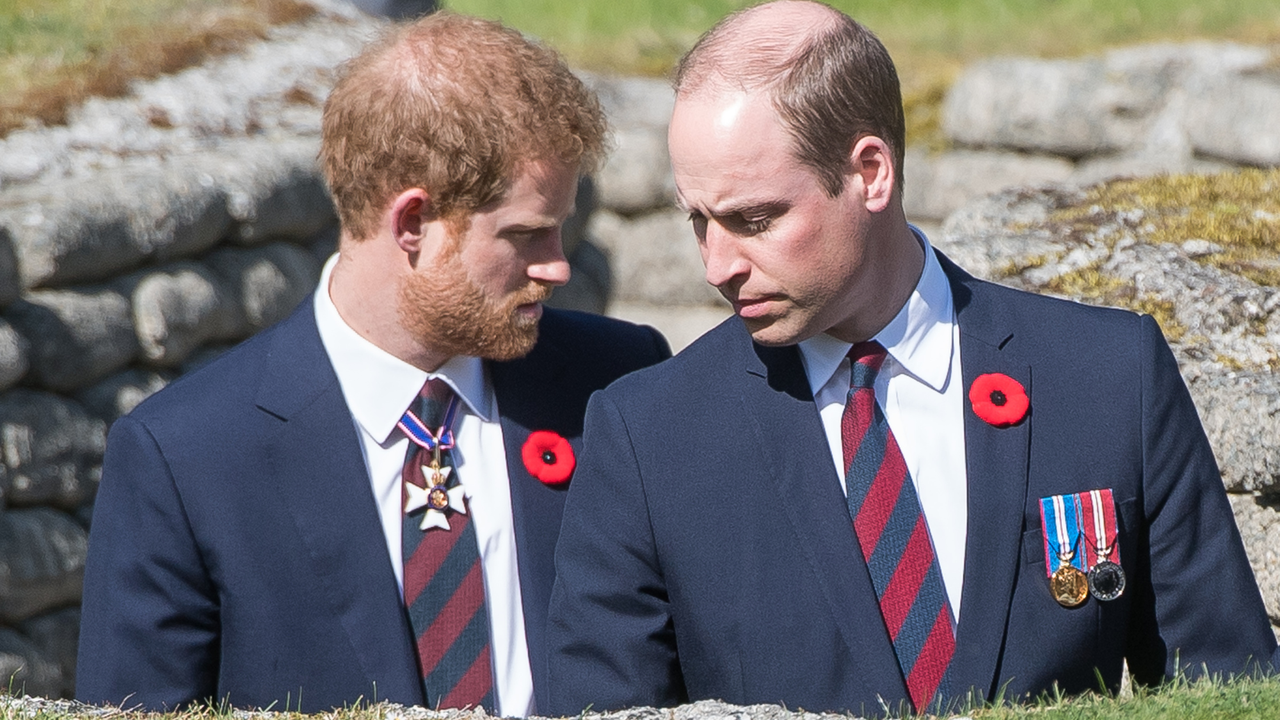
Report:
M 965 524 L 969 519 L 960 327 L 955 320 L 946 274 L 924 234 L 915 233 L 924 247 L 924 270 L 906 305 L 873 338 L 888 351 L 884 366 L 876 378 L 876 401 L 902 450 L 933 541 L 951 612 L 959 623 Z M 800 343 L 809 388 L 822 415 L 842 487 L 845 454 L 840 419 L 852 379 L 847 357 L 850 347 L 850 343 L 828 334 Z

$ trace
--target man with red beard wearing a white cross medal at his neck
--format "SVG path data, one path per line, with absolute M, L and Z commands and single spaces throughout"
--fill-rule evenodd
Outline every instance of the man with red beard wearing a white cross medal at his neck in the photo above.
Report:
M 669 355 L 543 307 L 603 136 L 554 53 L 497 23 L 433 15 L 344 68 L 314 299 L 111 429 L 81 700 L 547 706 L 586 400 Z

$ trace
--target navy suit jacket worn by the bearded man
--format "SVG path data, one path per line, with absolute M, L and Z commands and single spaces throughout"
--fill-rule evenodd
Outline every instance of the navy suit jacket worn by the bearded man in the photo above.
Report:
M 591 392 L 669 354 L 653 329 L 547 310 L 527 357 L 489 365 L 540 707 L 564 488 L 530 475 L 520 448 L 549 429 L 576 451 Z M 84 571 L 79 700 L 421 705 L 411 635 L 311 301 L 111 428 Z

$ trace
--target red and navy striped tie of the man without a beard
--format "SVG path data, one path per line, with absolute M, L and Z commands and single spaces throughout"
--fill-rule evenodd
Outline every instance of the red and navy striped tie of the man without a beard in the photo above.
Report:
M 902 451 L 876 402 L 884 347 L 849 351 L 852 382 L 841 418 L 849 516 L 870 570 L 881 615 L 916 712 L 950 694 L 955 655 L 951 606 Z

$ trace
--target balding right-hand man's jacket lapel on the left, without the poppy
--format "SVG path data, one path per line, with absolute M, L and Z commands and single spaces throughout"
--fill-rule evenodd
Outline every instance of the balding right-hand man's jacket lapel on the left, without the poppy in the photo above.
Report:
M 768 464 L 769 482 L 785 489 L 785 515 L 800 559 L 813 570 L 823 598 L 854 659 L 863 697 L 905 698 L 906 685 L 876 589 L 858 547 L 840 478 L 831 464 L 822 419 L 795 346 L 760 347 L 742 331 L 749 350 L 742 413 Z M 803 592 L 797 588 L 797 592 Z

